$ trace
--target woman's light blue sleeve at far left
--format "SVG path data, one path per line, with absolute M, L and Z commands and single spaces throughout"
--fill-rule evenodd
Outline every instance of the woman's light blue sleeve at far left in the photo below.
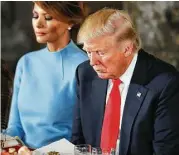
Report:
M 9 122 L 8 122 L 8 128 L 7 128 L 8 135 L 19 136 L 21 139 L 24 136 L 24 131 L 23 131 L 20 116 L 19 116 L 18 95 L 19 95 L 21 78 L 22 78 L 22 65 L 23 65 L 23 58 L 19 60 L 17 67 L 16 67 L 10 116 L 9 116 Z

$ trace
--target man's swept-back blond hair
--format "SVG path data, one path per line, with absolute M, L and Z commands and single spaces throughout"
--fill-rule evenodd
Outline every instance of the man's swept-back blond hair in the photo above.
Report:
M 82 24 L 77 42 L 84 44 L 99 36 L 114 35 L 116 41 L 130 39 L 136 49 L 141 48 L 140 37 L 129 16 L 123 10 L 103 8 L 86 18 Z

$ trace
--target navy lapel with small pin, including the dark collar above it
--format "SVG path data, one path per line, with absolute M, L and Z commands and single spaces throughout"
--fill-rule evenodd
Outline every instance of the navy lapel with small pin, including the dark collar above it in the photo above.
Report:
M 145 84 L 149 79 L 148 71 L 150 67 L 151 63 L 148 62 L 148 54 L 140 50 L 126 97 L 121 125 L 119 154 L 127 155 L 131 131 L 148 91 L 145 88 Z

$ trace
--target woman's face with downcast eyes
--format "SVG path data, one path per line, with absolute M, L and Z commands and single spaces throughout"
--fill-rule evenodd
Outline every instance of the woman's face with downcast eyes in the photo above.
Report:
M 39 43 L 55 43 L 63 39 L 69 25 L 57 20 L 37 4 L 34 5 L 32 25 Z

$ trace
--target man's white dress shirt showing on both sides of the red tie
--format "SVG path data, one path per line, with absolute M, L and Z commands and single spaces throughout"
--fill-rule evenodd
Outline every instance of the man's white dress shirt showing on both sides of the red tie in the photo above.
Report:
M 134 68 L 135 68 L 135 65 L 136 65 L 137 57 L 138 57 L 138 53 L 136 53 L 134 55 L 129 67 L 127 68 L 125 73 L 119 78 L 122 81 L 122 83 L 119 85 L 119 91 L 120 91 L 120 94 L 121 94 L 121 111 L 120 111 L 119 131 L 121 129 L 121 122 L 122 122 L 122 116 L 123 116 L 123 111 L 124 111 L 124 105 L 125 105 L 125 101 L 126 101 L 126 96 L 127 96 L 129 84 L 131 82 L 131 78 L 132 78 Z M 108 101 L 109 94 L 111 92 L 112 86 L 113 86 L 113 83 L 112 83 L 112 80 L 110 79 L 108 81 L 106 104 L 107 104 L 107 101 Z M 119 147 L 119 139 L 118 139 L 117 144 L 116 144 L 116 152 L 119 150 L 118 147 Z

